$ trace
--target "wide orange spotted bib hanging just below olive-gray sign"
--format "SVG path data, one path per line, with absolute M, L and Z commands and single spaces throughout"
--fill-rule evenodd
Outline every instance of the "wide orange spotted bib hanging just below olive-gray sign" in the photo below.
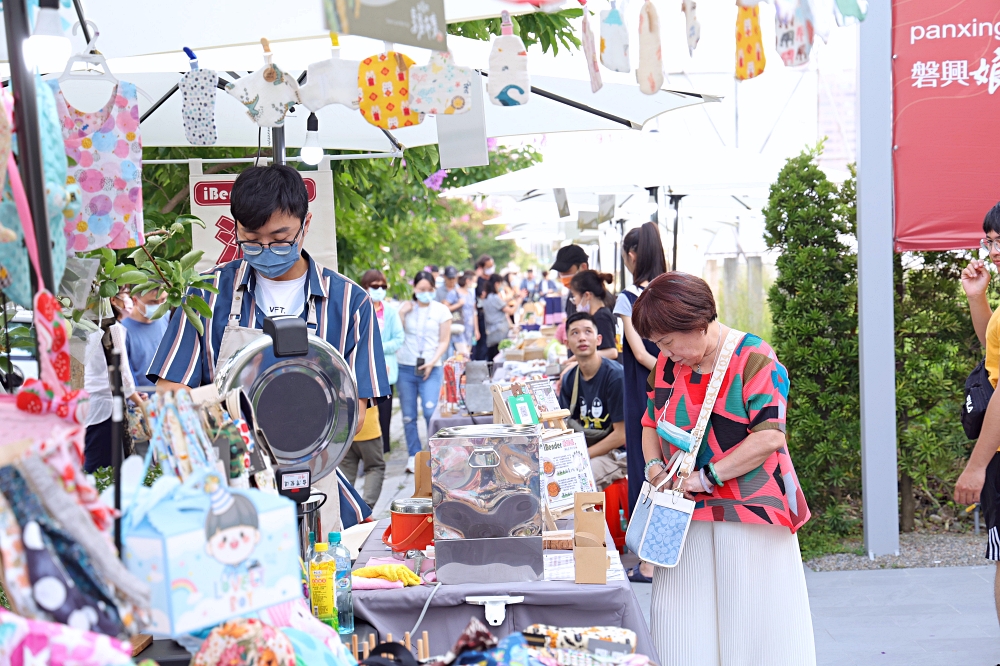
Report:
M 365 58 L 358 67 L 361 115 L 382 129 L 419 125 L 423 118 L 410 108 L 413 61 L 389 51 Z

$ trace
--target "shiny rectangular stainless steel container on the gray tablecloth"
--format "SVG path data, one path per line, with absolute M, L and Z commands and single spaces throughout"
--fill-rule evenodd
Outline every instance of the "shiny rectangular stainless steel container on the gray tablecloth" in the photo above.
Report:
M 445 428 L 430 438 L 438 580 L 540 580 L 540 426 Z

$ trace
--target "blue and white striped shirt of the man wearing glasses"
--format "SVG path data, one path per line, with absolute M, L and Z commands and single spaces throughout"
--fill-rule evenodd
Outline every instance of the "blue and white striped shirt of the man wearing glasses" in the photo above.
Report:
M 354 370 L 359 398 L 389 395 L 382 336 L 368 293 L 340 273 L 317 264 L 307 253 L 302 254 L 309 260 L 306 303 L 309 298 L 317 299 L 315 334 L 336 347 Z M 249 264 L 242 260 L 230 261 L 205 274 L 214 276 L 213 284 L 219 293 L 200 289 L 189 292 L 204 298 L 212 309 L 210 318 L 201 318 L 205 333 L 195 330 L 183 310 L 174 311 L 147 371 L 147 377 L 154 383 L 166 379 L 196 388 L 215 380 L 215 362 L 237 286 L 247 286 L 240 325 L 264 327 L 265 316 L 254 297 L 256 272 Z M 302 309 L 303 319 L 308 317 L 308 311 L 308 305 Z

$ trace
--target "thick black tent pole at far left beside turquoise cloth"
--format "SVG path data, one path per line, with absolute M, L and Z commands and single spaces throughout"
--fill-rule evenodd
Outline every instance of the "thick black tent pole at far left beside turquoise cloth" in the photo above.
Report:
M 4 3 L 4 31 L 7 35 L 7 52 L 10 59 L 11 90 L 14 93 L 14 123 L 17 126 L 19 170 L 24 179 L 31 209 L 32 226 L 38 244 L 38 268 L 44 287 L 55 293 L 55 276 L 52 272 L 52 239 L 49 236 L 49 217 L 45 210 L 45 178 L 42 170 L 42 144 L 38 129 L 38 100 L 35 97 L 35 75 L 24 62 L 21 45 L 31 36 L 26 0 L 7 0 Z

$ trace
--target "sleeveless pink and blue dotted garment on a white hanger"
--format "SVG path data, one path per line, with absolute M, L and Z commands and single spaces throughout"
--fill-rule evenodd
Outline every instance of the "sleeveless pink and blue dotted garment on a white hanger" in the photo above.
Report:
M 111 99 L 84 113 L 56 92 L 69 168 L 66 182 L 83 193 L 66 218 L 67 250 L 114 250 L 145 243 L 142 226 L 142 140 L 135 84 L 119 81 Z

